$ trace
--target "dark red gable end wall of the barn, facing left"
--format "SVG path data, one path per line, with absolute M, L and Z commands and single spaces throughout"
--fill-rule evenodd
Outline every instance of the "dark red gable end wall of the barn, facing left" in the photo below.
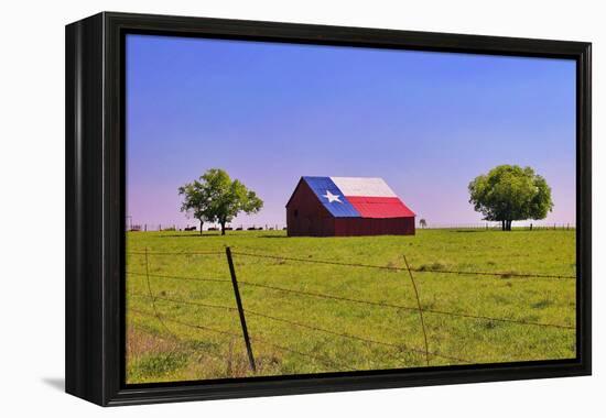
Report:
M 305 182 L 299 183 L 286 206 L 286 230 L 289 237 L 331 237 L 335 233 L 333 216 Z

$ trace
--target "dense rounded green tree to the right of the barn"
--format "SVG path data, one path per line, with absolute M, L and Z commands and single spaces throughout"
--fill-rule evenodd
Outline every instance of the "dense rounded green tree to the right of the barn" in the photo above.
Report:
M 551 188 L 531 167 L 499 165 L 469 183 L 469 204 L 488 221 L 500 221 L 504 231 L 511 222 L 544 219 L 553 209 Z

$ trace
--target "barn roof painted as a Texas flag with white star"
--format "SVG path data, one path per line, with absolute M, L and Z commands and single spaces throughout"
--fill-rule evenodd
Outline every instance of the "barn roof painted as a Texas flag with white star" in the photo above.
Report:
M 414 217 L 380 177 L 312 177 L 303 180 L 336 218 Z

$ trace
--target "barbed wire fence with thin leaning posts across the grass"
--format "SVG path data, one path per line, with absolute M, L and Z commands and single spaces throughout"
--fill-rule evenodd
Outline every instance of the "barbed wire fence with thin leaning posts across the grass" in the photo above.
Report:
M 338 337 L 344 340 L 349 341 L 359 341 L 367 344 L 372 345 L 380 345 L 380 346 L 387 346 L 391 349 L 397 349 L 399 351 L 403 352 L 410 352 L 423 355 L 425 359 L 425 364 L 429 366 L 431 365 L 432 359 L 443 359 L 451 362 L 456 362 L 458 364 L 470 364 L 474 363 L 470 359 L 462 359 L 461 356 L 455 356 L 451 354 L 444 354 L 441 352 L 432 351 L 430 350 L 430 342 L 428 338 L 428 331 L 425 327 L 424 321 L 424 315 L 437 315 L 437 316 L 446 316 L 452 318 L 465 318 L 470 320 L 479 320 L 479 321 L 495 321 L 495 322 L 505 322 L 505 323 L 515 323 L 519 326 L 526 326 L 526 327 L 543 327 L 543 328 L 552 328 L 556 330 L 562 331 L 574 331 L 576 328 L 573 326 L 567 326 L 563 323 L 545 323 L 545 322 L 539 322 L 539 321 L 529 321 L 523 320 L 519 318 L 510 318 L 510 317 L 493 317 L 493 316 L 483 316 L 483 315 L 476 315 L 476 314 L 469 314 L 469 312 L 455 312 L 455 311 L 447 311 L 447 310 L 440 310 L 440 309 L 433 309 L 433 308 L 425 308 L 422 306 L 421 297 L 419 293 L 419 288 L 416 286 L 414 275 L 413 273 L 434 273 L 434 274 L 446 274 L 446 275 L 468 275 L 468 276 L 494 276 L 494 277 L 502 277 L 502 278 L 512 278 L 512 277 L 519 277 L 519 278 L 545 278 L 545 279 L 575 279 L 576 276 L 572 275 L 551 275 L 551 274 L 534 274 L 534 273 L 512 273 L 512 272 L 476 272 L 476 271 L 451 271 L 451 270 L 440 270 L 440 268 L 426 268 L 426 267 L 414 267 L 411 266 L 408 262 L 408 258 L 405 255 L 402 255 L 404 261 L 404 267 L 398 267 L 392 265 L 374 265 L 374 264 L 362 264 L 362 263 L 345 263 L 345 262 L 338 262 L 338 261 L 331 261 L 331 260 L 312 260 L 312 258 L 300 258 L 300 257 L 291 257 L 291 256 L 282 256 L 282 255 L 275 255 L 275 254 L 267 254 L 267 253 L 258 253 L 258 252 L 250 252 L 250 251 L 232 251 L 231 248 L 226 246 L 225 252 L 224 251 L 191 251 L 191 252 L 170 252 L 170 251 L 161 251 L 161 252 L 150 252 L 148 249 L 144 249 L 144 251 L 129 251 L 127 252 L 129 255 L 139 255 L 143 256 L 144 261 L 144 271 L 136 272 L 136 271 L 127 271 L 126 273 L 128 275 L 133 276 L 142 276 L 145 279 L 145 286 L 147 286 L 147 294 L 139 294 L 139 293 L 130 293 L 130 295 L 141 298 L 148 298 L 151 301 L 151 308 L 152 311 L 142 311 L 140 309 L 129 308 L 129 311 L 132 311 L 134 314 L 147 316 L 147 317 L 153 317 L 155 318 L 166 330 L 166 332 L 174 337 L 176 340 L 178 340 L 178 337 L 176 336 L 173 330 L 167 326 L 167 323 L 174 323 L 182 327 L 187 327 L 195 330 L 203 330 L 208 332 L 214 332 L 217 334 L 224 334 L 229 336 L 231 338 L 241 338 L 245 342 L 249 366 L 252 373 L 257 371 L 256 360 L 255 360 L 255 352 L 252 342 L 259 343 L 262 345 L 268 345 L 273 349 L 277 349 L 279 351 L 290 352 L 295 355 L 315 360 L 325 366 L 333 367 L 336 371 L 353 371 L 354 369 L 351 365 L 345 365 L 340 362 L 335 361 L 334 359 L 331 359 L 326 355 L 318 354 L 316 352 L 303 352 L 295 350 L 293 348 L 285 346 L 283 344 L 277 344 L 275 342 L 269 341 L 268 339 L 260 338 L 258 336 L 250 336 L 248 331 L 247 326 L 247 316 L 248 317 L 258 317 L 263 318 L 270 321 L 281 322 L 289 324 L 291 327 L 296 328 L 303 328 L 313 332 L 318 332 L 332 337 Z M 226 256 L 226 262 L 229 267 L 229 274 L 230 279 L 220 278 L 220 277 L 202 277 L 202 276 L 181 276 L 181 275 L 171 275 L 171 274 L 156 274 L 156 273 L 150 273 L 150 256 L 197 256 L 197 255 L 223 255 Z M 338 265 L 338 266 L 347 266 L 351 268 L 371 268 L 371 270 L 387 270 L 387 271 L 396 271 L 396 272 L 402 272 L 405 273 L 411 282 L 413 293 L 414 293 L 414 299 L 415 299 L 415 306 L 407 306 L 407 305 L 400 305 L 400 304 L 391 304 L 391 302 L 385 302 L 385 301 L 377 301 L 377 300 L 368 300 L 368 299 L 358 299 L 358 298 L 351 298 L 351 297 L 344 297 L 339 295 L 332 295 L 332 294 L 325 294 L 325 293 L 317 293 L 317 292 L 309 292 L 309 290 L 301 290 L 301 289 L 294 289 L 289 287 L 282 287 L 277 285 L 268 285 L 268 284 L 261 284 L 261 283 L 253 283 L 250 280 L 242 280 L 237 278 L 234 257 L 235 256 L 241 256 L 241 257 L 256 257 L 256 258 L 271 258 L 271 260 L 280 260 L 280 261 L 290 261 L 290 262 L 296 262 L 296 263 L 313 263 L 313 264 L 323 264 L 323 265 Z M 181 298 L 174 298 L 174 297 L 166 297 L 163 295 L 158 295 L 153 292 L 151 286 L 151 277 L 155 278 L 163 278 L 163 279 L 175 279 L 175 280 L 186 280 L 186 282 L 204 282 L 204 283 L 212 283 L 212 284 L 221 284 L 228 287 L 231 287 L 231 290 L 234 292 L 234 298 L 236 301 L 236 307 L 234 306 L 227 306 L 227 305 L 217 305 L 217 304 L 208 304 L 208 302 L 202 302 L 202 301 L 194 301 L 194 300 L 186 300 Z M 229 286 L 231 285 L 231 286 Z M 337 300 L 347 304 L 357 304 L 357 305 L 365 305 L 365 306 L 371 306 L 375 308 L 382 308 L 382 309 L 401 309 L 407 311 L 416 312 L 419 315 L 420 320 L 420 328 L 422 331 L 423 337 L 423 348 L 415 348 L 415 346 L 409 346 L 407 344 L 402 343 L 393 343 L 389 341 L 382 341 L 377 339 L 371 339 L 365 336 L 358 336 L 348 332 L 343 332 L 337 329 L 328 329 L 324 327 L 320 327 L 313 323 L 307 323 L 304 321 L 294 321 L 288 318 L 283 318 L 277 315 L 270 315 L 267 312 L 261 312 L 259 310 L 252 310 L 244 307 L 244 300 L 241 298 L 241 294 L 239 292 L 239 286 L 242 285 L 245 287 L 253 287 L 253 288 L 260 288 L 264 290 L 275 292 L 275 293 L 284 293 L 290 295 L 296 295 L 297 297 L 307 297 L 307 298 L 315 298 L 315 299 L 324 299 L 324 300 Z M 198 323 L 192 323 L 188 321 L 183 321 L 177 318 L 169 317 L 162 312 L 160 312 L 160 309 L 156 306 L 158 300 L 167 301 L 171 304 L 177 304 L 177 305 L 191 305 L 191 306 L 197 306 L 208 309 L 220 309 L 225 311 L 231 311 L 231 312 L 238 312 L 239 321 L 240 321 L 240 328 L 241 328 L 241 334 L 225 330 L 225 329 L 218 329 L 214 327 L 208 327 L 206 324 L 198 324 Z

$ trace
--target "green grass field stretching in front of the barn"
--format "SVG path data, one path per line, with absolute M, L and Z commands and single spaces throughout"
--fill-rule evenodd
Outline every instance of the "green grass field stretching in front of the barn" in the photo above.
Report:
M 235 253 L 257 373 L 248 365 L 226 245 Z M 285 231 L 234 231 L 226 237 L 129 232 L 127 248 L 128 383 L 426 366 L 407 271 L 241 254 L 246 252 L 389 267 L 404 267 L 405 255 L 411 267 L 422 271 L 413 275 L 430 366 L 575 356 L 575 279 L 515 276 L 574 276 L 575 231 L 418 230 L 414 237 L 370 238 L 286 238 Z M 166 254 L 181 252 L 216 253 Z

